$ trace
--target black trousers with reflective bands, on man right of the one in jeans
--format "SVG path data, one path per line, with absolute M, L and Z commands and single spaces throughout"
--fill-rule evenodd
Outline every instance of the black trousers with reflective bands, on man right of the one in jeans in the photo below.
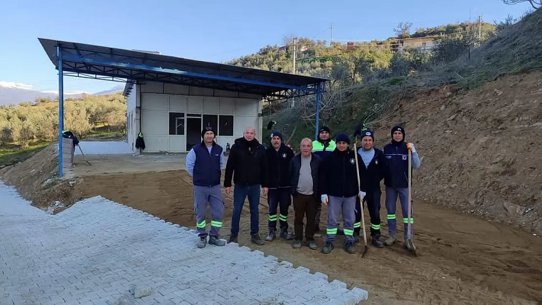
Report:
M 267 193 L 267 204 L 269 205 L 268 227 L 276 231 L 276 220 L 279 220 L 280 228 L 288 229 L 288 209 L 292 204 L 292 194 L 289 187 L 280 189 L 269 189 Z M 280 208 L 280 214 L 277 209 Z

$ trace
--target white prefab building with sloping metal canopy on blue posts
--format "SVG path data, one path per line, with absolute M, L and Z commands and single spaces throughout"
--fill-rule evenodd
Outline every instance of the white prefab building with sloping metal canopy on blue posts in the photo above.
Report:
M 187 152 L 201 142 L 204 126 L 217 132 L 224 148 L 247 126 L 262 134 L 262 102 L 316 95 L 327 79 L 183 59 L 138 50 L 38 38 L 59 70 L 59 111 L 63 113 L 63 76 L 125 82 L 127 141 L 134 153 Z M 63 129 L 59 115 L 59 130 Z M 135 147 L 143 134 L 145 150 Z M 62 149 L 62 133 L 59 132 Z M 62 155 L 59 157 L 62 177 Z

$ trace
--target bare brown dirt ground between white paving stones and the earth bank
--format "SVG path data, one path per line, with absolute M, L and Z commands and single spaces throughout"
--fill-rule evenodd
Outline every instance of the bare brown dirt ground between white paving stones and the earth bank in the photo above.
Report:
M 184 171 L 95 176 L 85 177 L 76 190 L 82 197 L 100 194 L 193 227 L 192 189 L 186 181 L 189 177 Z M 232 209 L 231 197 L 224 197 L 226 219 L 222 232 L 227 238 Z M 266 212 L 261 206 L 262 236 Z M 385 215 L 385 210 L 382 213 Z M 542 302 L 542 239 L 435 205 L 416 204 L 415 216 L 419 257 L 410 256 L 402 243 L 386 249 L 371 246 L 369 256 L 363 259 L 346 254 L 340 246 L 331 255 L 308 248 L 294 250 L 285 241 L 255 246 L 248 240 L 248 211 L 241 219 L 240 244 L 368 289 L 373 304 Z M 339 237 L 337 244 L 341 242 Z M 324 239 L 317 244 L 321 249 Z

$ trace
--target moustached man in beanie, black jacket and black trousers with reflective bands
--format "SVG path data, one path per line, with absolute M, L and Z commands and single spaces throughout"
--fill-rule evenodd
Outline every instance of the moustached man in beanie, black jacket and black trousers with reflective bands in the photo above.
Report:
M 276 237 L 276 220 L 280 223 L 280 237 L 291 240 L 288 234 L 288 209 L 292 204 L 290 193 L 290 177 L 288 176 L 288 165 L 294 157 L 292 148 L 282 144 L 282 134 L 275 131 L 271 134 L 272 147 L 267 148 L 266 158 L 269 167 L 267 204 L 269 205 L 269 232 L 266 241 L 273 241 Z M 277 215 L 277 207 L 280 213 Z

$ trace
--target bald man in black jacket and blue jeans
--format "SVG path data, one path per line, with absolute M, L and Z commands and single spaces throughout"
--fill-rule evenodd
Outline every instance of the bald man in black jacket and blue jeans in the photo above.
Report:
M 255 139 L 256 129 L 249 126 L 244 129 L 243 137 L 235 139 L 231 146 L 226 171 L 224 173 L 224 187 L 227 194 L 231 192 L 231 177 L 234 188 L 234 211 L 231 216 L 231 234 L 229 242 L 237 243 L 239 222 L 243 210 L 244 200 L 248 197 L 250 208 L 250 239 L 257 245 L 264 242 L 260 239 L 259 231 L 259 207 L 260 187 L 262 193 L 267 193 L 268 166 L 266 150 Z

